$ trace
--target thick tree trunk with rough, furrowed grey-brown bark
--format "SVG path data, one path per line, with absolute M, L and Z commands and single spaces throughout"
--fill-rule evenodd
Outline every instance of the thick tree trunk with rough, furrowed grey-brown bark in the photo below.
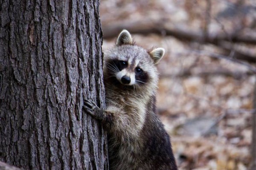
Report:
M 108 168 L 98 0 L 0 0 L 0 161 L 24 169 Z

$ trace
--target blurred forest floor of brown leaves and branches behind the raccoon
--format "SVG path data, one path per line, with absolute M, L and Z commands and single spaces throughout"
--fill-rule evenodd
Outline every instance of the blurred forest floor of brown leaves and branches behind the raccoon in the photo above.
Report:
M 103 49 L 122 29 L 164 47 L 157 96 L 180 170 L 246 170 L 252 160 L 255 0 L 101 0 Z

